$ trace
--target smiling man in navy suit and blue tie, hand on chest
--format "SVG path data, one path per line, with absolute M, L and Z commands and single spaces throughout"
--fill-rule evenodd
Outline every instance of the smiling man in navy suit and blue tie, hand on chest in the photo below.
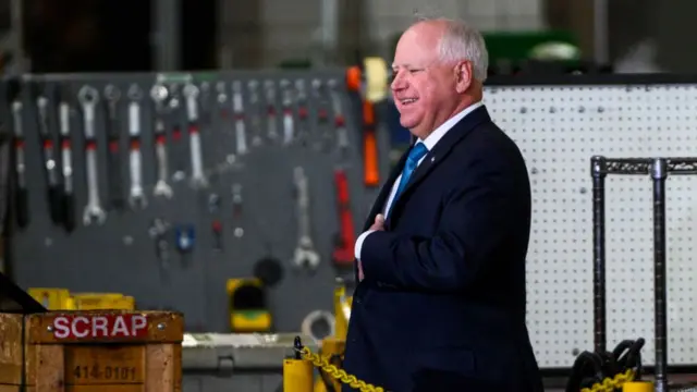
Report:
M 396 47 L 391 88 L 417 142 L 356 241 L 344 359 L 387 391 L 542 391 L 525 324 L 529 180 L 481 103 L 487 63 L 456 21 L 420 21 Z

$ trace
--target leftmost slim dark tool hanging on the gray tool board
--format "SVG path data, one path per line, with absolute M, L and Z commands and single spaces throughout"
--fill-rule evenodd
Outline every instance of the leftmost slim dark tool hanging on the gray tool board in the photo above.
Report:
M 26 228 L 29 224 L 29 205 L 28 205 L 28 191 L 26 188 L 26 164 L 24 152 L 24 121 L 22 121 L 22 114 L 24 112 L 24 106 L 19 98 L 17 91 L 14 91 L 17 97 L 11 97 L 12 99 L 12 119 L 14 128 L 14 150 L 15 150 L 15 175 L 17 182 L 16 189 L 16 220 L 17 225 L 21 229 Z

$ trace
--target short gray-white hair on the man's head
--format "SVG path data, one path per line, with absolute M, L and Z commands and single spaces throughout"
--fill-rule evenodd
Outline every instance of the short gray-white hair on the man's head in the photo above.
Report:
M 444 62 L 467 60 L 472 62 L 474 78 L 484 83 L 489 68 L 489 52 L 481 33 L 461 20 L 418 16 L 418 22 L 440 22 L 445 34 L 440 40 L 440 57 Z

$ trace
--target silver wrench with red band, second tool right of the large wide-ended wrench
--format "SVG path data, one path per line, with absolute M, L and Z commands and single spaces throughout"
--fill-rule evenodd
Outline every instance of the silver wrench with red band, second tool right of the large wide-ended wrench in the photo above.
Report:
M 143 90 L 137 84 L 129 87 L 129 171 L 131 173 L 131 189 L 129 204 L 131 208 L 145 208 L 148 199 L 143 189 L 143 152 L 140 151 L 140 100 Z

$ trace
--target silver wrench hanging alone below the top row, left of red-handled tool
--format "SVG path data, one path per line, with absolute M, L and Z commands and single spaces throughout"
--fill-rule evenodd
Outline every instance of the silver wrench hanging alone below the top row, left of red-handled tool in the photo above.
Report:
M 293 257 L 296 267 L 307 267 L 315 270 L 319 265 L 319 254 L 315 249 L 311 236 L 309 216 L 309 186 L 307 175 L 302 167 L 296 167 L 293 181 L 297 197 L 297 245 Z

